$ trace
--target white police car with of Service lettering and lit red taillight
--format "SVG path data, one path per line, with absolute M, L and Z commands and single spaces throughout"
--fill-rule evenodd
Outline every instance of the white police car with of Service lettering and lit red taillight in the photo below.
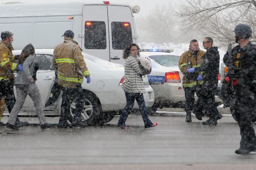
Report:
M 178 66 L 180 55 L 170 52 L 158 52 L 159 50 L 155 52 L 142 50 L 140 57 L 150 58 L 152 64 L 152 72 L 147 76 L 149 84 L 154 89 L 155 103 L 149 111 L 154 113 L 157 108 L 184 108 L 183 74 Z M 197 100 L 196 95 L 195 99 Z M 222 102 L 218 96 L 215 96 L 215 101 Z

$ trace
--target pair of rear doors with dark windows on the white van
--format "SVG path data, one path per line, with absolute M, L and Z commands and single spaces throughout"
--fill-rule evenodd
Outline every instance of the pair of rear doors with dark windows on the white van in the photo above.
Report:
M 123 64 L 123 48 L 129 43 L 136 43 L 130 7 L 84 5 L 82 34 L 81 48 L 84 53 Z

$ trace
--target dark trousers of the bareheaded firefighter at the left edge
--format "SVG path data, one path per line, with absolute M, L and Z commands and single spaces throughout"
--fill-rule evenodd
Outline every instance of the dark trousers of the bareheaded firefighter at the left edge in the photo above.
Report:
M 7 80 L 0 81 L 0 98 L 4 97 L 5 105 L 8 109 L 8 112 L 11 113 L 13 106 L 16 102 L 15 95 L 13 92 L 13 85 L 8 83 Z

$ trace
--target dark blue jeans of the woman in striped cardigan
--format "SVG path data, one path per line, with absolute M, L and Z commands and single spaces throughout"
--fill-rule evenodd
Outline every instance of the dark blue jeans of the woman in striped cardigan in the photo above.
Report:
M 136 100 L 139 105 L 139 109 L 141 112 L 142 119 L 144 121 L 145 128 L 151 127 L 153 123 L 148 118 L 148 112 L 147 112 L 143 94 L 142 93 L 141 94 L 140 93 L 128 93 L 126 91 L 124 91 L 124 92 L 125 92 L 125 97 L 126 97 L 126 106 L 125 106 L 125 108 L 123 108 L 123 111 L 119 117 L 119 121 L 117 124 L 125 126 L 125 121 L 128 117 L 129 111 L 131 111 L 131 109 L 133 108 L 134 101 Z

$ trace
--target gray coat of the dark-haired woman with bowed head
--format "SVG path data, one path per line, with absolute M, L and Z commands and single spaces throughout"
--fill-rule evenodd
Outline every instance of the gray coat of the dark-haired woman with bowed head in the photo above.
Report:
M 15 84 L 26 85 L 30 83 L 29 78 L 32 78 L 35 65 L 36 65 L 35 55 L 28 56 L 23 63 L 23 70 L 17 72 Z

